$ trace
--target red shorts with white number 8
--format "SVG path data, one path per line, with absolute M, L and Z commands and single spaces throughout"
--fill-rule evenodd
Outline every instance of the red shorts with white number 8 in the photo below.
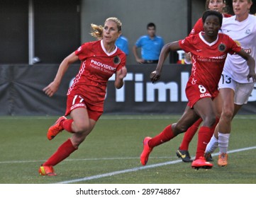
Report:
M 196 102 L 202 98 L 216 98 L 218 90 L 210 93 L 204 86 L 199 84 L 187 83 L 186 95 L 189 100 L 188 106 L 193 107 Z

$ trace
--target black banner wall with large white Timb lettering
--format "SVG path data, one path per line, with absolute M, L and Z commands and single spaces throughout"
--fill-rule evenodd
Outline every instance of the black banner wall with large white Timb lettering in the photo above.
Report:
M 184 92 L 190 75 L 190 65 L 167 64 L 160 81 L 151 83 L 150 73 L 155 65 L 128 65 L 123 88 L 113 86 L 114 76 L 108 81 L 104 114 L 182 114 L 187 105 Z M 0 115 L 63 115 L 66 93 L 79 64 L 69 67 L 59 90 L 52 98 L 43 93 L 57 72 L 58 65 L 0 65 Z M 249 103 L 240 114 L 255 114 L 256 87 Z

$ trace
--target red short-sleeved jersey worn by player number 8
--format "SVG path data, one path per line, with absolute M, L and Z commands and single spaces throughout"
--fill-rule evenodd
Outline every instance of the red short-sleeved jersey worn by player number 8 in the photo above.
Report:
M 201 32 L 179 40 L 179 46 L 185 52 L 191 52 L 191 76 L 187 83 L 204 86 L 210 94 L 218 91 L 218 81 L 227 57 L 227 54 L 240 52 L 236 42 L 228 35 L 218 33 L 216 41 L 206 42 Z M 213 94 L 214 95 L 214 94 Z M 188 98 L 189 99 L 189 98 Z

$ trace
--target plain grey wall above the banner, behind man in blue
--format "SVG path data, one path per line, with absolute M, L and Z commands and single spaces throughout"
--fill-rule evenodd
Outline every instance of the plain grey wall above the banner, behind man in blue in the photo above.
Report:
M 194 26 L 204 12 L 205 4 L 201 0 L 191 1 L 189 16 L 188 1 L 191 0 L 82 0 L 82 42 L 94 39 L 89 35 L 91 23 L 104 25 L 106 18 L 116 16 L 122 21 L 122 32 L 129 42 L 130 55 L 127 57 L 127 64 L 136 64 L 132 48 L 140 36 L 147 34 L 148 23 L 155 23 L 156 34 L 163 37 L 165 43 L 183 39 L 188 35 L 191 30 L 189 23 Z

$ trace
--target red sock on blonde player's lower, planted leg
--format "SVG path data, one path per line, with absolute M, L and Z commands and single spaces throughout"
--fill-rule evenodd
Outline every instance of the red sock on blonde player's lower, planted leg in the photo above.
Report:
M 74 148 L 70 139 L 67 139 L 58 149 L 57 151 L 50 156 L 48 161 L 43 163 L 43 165 L 56 165 L 60 163 L 65 158 L 67 158 L 71 153 L 73 153 L 77 148 Z

